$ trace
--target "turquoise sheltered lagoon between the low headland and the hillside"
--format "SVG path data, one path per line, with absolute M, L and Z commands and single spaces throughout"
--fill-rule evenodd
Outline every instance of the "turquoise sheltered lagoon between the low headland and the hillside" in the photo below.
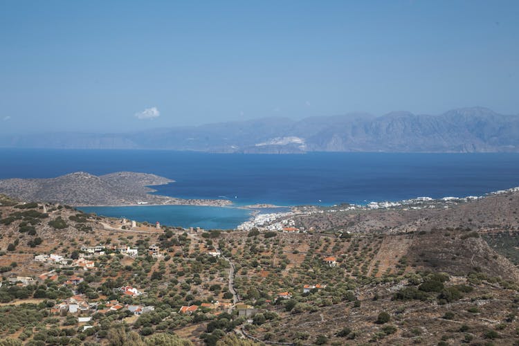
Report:
M 233 229 L 246 221 L 251 210 L 206 206 L 131 206 L 81 207 L 84 212 L 95 212 L 106 217 L 126 217 L 136 221 L 204 229 Z

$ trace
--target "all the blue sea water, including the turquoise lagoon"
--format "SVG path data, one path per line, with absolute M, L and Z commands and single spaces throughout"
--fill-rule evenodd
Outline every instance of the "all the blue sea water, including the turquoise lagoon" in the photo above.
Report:
M 519 154 L 210 154 L 167 150 L 0 149 L 0 179 L 51 178 L 84 171 L 158 174 L 174 183 L 157 194 L 229 199 L 233 206 L 81 208 L 108 217 L 183 227 L 235 228 L 257 203 L 366 204 L 416 197 L 481 196 L 519 185 Z M 282 210 L 282 209 L 280 209 Z M 275 210 L 257 210 L 272 212 Z M 284 211 L 284 210 L 283 210 Z

